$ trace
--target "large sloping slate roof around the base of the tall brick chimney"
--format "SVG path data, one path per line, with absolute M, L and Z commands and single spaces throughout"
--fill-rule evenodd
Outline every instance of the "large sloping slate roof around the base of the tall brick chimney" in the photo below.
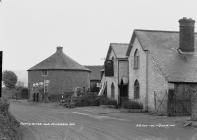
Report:
M 134 37 L 137 37 L 144 50 L 149 51 L 167 81 L 197 82 L 197 52 L 183 54 L 177 50 L 179 32 L 135 30 Z M 132 49 L 133 38 L 127 55 Z M 197 50 L 196 47 L 197 34 L 195 34 L 195 50 Z

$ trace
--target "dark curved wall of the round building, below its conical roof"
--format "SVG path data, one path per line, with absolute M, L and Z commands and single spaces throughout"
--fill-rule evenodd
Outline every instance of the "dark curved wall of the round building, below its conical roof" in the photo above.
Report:
M 30 90 L 30 99 L 32 99 L 32 84 L 36 82 L 43 82 L 50 80 L 48 86 L 48 93 L 59 94 L 62 91 L 72 92 L 74 87 L 90 88 L 90 73 L 87 71 L 64 71 L 64 70 L 49 70 L 45 78 L 42 72 L 29 71 L 28 72 L 28 85 Z

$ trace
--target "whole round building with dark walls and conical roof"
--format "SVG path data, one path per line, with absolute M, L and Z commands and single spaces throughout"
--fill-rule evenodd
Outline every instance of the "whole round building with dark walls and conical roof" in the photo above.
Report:
M 90 88 L 90 70 L 64 54 L 63 47 L 28 70 L 29 99 L 34 101 L 56 100 L 74 88 Z

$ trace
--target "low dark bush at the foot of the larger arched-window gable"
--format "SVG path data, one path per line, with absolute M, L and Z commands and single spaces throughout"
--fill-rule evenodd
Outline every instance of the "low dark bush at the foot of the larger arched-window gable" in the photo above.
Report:
M 122 107 L 125 109 L 143 109 L 143 104 L 137 101 L 128 100 L 122 103 Z

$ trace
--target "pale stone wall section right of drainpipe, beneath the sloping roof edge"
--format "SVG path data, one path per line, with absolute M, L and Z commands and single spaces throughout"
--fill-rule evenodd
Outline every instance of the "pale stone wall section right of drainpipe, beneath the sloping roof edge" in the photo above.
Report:
M 166 114 L 167 100 L 168 100 L 167 92 L 168 92 L 169 84 L 165 79 L 164 74 L 159 67 L 159 64 L 157 63 L 156 58 L 153 57 L 151 52 L 147 52 L 147 54 L 148 54 L 148 111 L 151 112 L 158 111 L 160 113 Z M 154 93 L 156 94 L 156 96 L 154 95 Z M 157 106 L 157 103 L 161 105 Z

